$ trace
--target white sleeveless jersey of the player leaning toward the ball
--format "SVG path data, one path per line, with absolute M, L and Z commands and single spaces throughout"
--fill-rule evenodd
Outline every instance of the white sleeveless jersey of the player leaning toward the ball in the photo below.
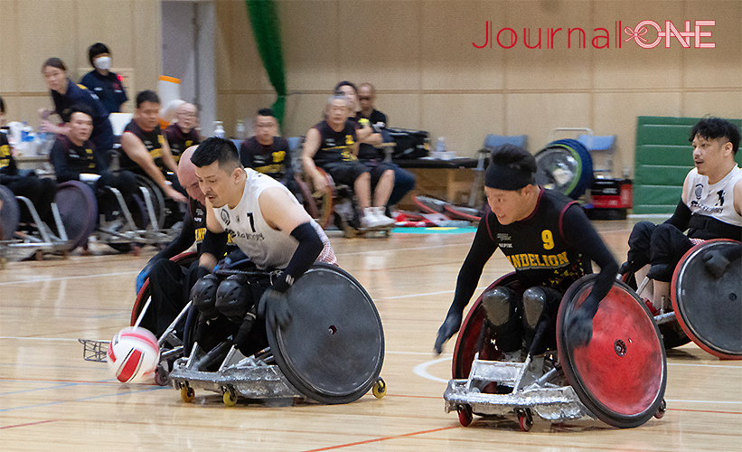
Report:
M 267 188 L 279 188 L 286 191 L 296 202 L 296 197 L 283 184 L 266 174 L 246 168 L 245 190 L 242 199 L 234 209 L 225 204 L 214 209 L 217 221 L 230 233 L 231 239 L 240 247 L 248 258 L 260 269 L 286 268 L 294 256 L 299 241 L 290 235 L 291 231 L 276 231 L 268 226 L 258 204 L 260 193 Z M 316 221 L 311 221 L 324 244 L 324 250 L 318 261 L 336 264 L 330 240 Z

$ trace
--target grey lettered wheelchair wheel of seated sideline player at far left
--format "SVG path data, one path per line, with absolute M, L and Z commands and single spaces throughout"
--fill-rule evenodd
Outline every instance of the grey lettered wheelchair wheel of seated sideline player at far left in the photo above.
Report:
M 95 194 L 86 184 L 69 181 L 57 185 L 54 203 L 60 212 L 61 223 L 70 240 L 69 250 L 84 245 L 95 230 L 98 203 Z

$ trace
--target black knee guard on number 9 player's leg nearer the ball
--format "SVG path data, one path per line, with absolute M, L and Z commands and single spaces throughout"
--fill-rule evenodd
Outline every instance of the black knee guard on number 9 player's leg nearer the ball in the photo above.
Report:
M 519 297 L 507 287 L 495 287 L 482 297 L 495 344 L 503 353 L 518 351 L 523 343 L 518 301 Z

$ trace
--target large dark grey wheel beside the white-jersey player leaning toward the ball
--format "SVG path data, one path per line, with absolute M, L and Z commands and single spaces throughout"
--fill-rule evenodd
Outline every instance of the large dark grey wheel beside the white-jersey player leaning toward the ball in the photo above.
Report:
M 286 379 L 322 403 L 349 403 L 371 390 L 384 361 L 384 332 L 361 284 L 341 268 L 315 264 L 286 297 L 291 323 L 267 325 Z

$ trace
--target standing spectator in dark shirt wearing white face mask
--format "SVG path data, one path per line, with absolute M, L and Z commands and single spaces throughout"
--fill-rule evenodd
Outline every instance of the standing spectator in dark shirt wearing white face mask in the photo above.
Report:
M 121 77 L 111 72 L 111 52 L 102 42 L 96 42 L 88 50 L 88 59 L 94 71 L 89 71 L 80 80 L 80 84 L 100 99 L 108 113 L 118 113 L 121 105 L 127 101 L 127 91 L 121 83 Z

